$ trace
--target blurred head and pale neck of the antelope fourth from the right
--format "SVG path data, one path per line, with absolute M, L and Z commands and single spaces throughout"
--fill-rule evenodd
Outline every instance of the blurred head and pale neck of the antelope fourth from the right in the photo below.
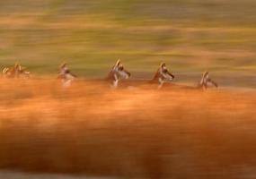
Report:
M 75 80 L 76 75 L 70 72 L 70 70 L 67 68 L 67 64 L 64 63 L 59 67 L 57 78 L 62 80 L 63 87 L 69 87 L 72 81 Z

